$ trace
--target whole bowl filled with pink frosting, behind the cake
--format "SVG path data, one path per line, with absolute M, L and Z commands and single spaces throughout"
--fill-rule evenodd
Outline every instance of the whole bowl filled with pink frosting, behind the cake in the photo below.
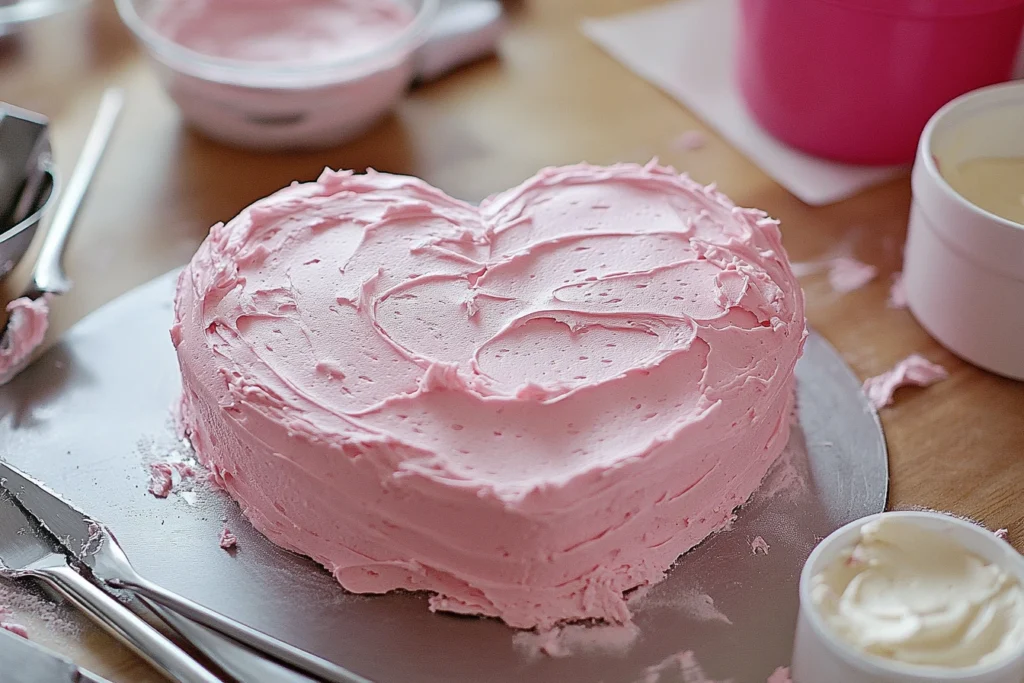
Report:
M 259 150 L 366 131 L 414 77 L 437 0 L 117 0 L 184 118 Z

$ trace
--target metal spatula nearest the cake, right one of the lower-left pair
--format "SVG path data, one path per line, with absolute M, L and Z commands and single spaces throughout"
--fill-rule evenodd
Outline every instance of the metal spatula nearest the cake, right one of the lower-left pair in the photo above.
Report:
M 207 651 L 217 648 L 210 648 L 208 642 L 197 642 L 194 637 L 198 636 L 203 639 L 202 631 L 204 630 L 202 627 L 212 630 L 207 632 L 209 634 L 225 636 L 229 639 L 225 640 L 225 643 L 229 644 L 233 641 L 318 680 L 337 683 L 370 683 L 367 679 L 337 665 L 256 631 L 143 579 L 132 568 L 110 529 L 89 518 L 57 494 L 49 490 L 44 484 L 2 461 L 0 461 L 0 488 L 12 495 L 26 514 L 34 517 L 46 531 L 59 539 L 63 549 L 88 567 L 92 577 L 112 588 L 129 590 L 142 599 L 147 606 L 156 607 L 155 611 L 165 617 L 172 628 L 178 630 L 182 636 L 213 657 L 224 669 L 229 667 L 217 659 L 214 656 L 215 652 L 211 654 Z M 0 490 L 0 493 L 3 492 Z M 0 533 L 0 538 L 2 538 L 2 533 Z M 160 605 L 169 608 L 170 611 L 160 609 Z M 181 620 L 177 615 L 187 618 Z M 199 627 L 200 631 L 197 631 L 198 625 L 202 625 Z M 179 628 L 182 626 L 184 629 Z M 204 644 L 206 644 L 205 647 Z M 265 664 L 273 663 L 266 661 Z M 246 683 L 250 680 L 261 682 L 283 680 L 266 677 L 240 677 L 240 679 Z M 289 678 L 287 680 L 302 679 Z

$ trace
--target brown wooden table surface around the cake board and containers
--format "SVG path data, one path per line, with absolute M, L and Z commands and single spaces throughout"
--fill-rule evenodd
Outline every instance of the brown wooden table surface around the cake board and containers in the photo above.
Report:
M 500 58 L 419 88 L 361 139 L 303 154 L 253 154 L 186 128 L 122 27 L 113 2 L 30 27 L 0 41 L 0 99 L 42 112 L 53 124 L 67 177 L 101 90 L 120 85 L 127 105 L 81 214 L 67 257 L 74 290 L 53 304 L 52 341 L 118 295 L 185 263 L 216 221 L 324 166 L 409 173 L 470 201 L 513 185 L 543 166 L 586 160 L 646 162 L 657 156 L 740 205 L 782 221 L 790 255 L 804 261 L 840 245 L 881 275 L 847 295 L 821 276 L 804 284 L 808 316 L 860 377 L 911 352 L 949 369 L 928 389 L 903 390 L 883 411 L 889 441 L 890 506 L 926 506 L 1009 527 L 1024 541 L 1024 383 L 969 366 L 933 341 L 906 310 L 886 306 L 900 269 L 910 203 L 907 178 L 824 208 L 802 204 L 675 100 L 635 77 L 579 32 L 585 15 L 651 4 L 557 0 L 509 5 Z M 690 129 L 710 143 L 684 152 L 672 141 Z M 5 302 L 26 282 L 19 268 L 0 291 Z M 71 492 L 69 492 L 71 493 Z M 2 599 L 2 593 L 0 593 Z M 15 610 L 16 612 L 16 610 Z M 159 681 L 104 634 L 78 638 L 15 613 L 35 638 L 112 681 Z

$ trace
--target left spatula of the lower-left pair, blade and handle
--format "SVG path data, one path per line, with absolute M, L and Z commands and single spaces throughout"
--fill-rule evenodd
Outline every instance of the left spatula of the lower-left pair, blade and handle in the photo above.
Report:
M 55 539 L 34 524 L 9 493 L 0 495 L 0 575 L 44 582 L 172 681 L 219 683 L 163 634 L 69 565 Z

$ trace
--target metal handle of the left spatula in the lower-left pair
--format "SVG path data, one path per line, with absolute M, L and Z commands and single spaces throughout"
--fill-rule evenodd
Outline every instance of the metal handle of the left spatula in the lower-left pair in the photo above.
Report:
M 178 683 L 220 683 L 220 679 L 184 650 L 70 566 L 47 567 L 33 575 L 49 584 L 170 680 Z

